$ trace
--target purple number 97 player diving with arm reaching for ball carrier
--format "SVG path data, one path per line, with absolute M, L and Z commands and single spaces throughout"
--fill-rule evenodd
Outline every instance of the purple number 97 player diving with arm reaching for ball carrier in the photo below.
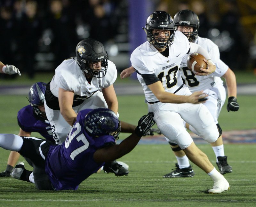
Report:
M 76 190 L 105 162 L 129 153 L 153 124 L 153 113 L 142 116 L 134 132 L 116 145 L 121 128 L 116 114 L 108 108 L 84 109 L 61 145 L 35 137 L 0 134 L 0 146 L 19 152 L 34 165 L 32 172 L 18 163 L 11 177 L 33 182 L 39 190 Z

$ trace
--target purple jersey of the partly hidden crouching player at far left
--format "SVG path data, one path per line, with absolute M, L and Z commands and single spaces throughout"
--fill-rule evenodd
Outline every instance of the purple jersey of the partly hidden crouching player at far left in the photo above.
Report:
M 33 112 L 33 107 L 28 105 L 20 109 L 17 115 L 18 124 L 23 131 L 38 132 L 45 139 L 55 142 L 52 138 L 52 128 L 48 120 L 44 120 Z

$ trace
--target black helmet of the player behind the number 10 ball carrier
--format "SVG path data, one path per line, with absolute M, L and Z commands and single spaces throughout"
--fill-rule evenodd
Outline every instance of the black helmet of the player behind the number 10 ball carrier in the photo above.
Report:
M 173 18 L 175 25 L 178 26 L 191 26 L 193 32 L 182 32 L 188 37 L 189 42 L 194 42 L 198 37 L 198 28 L 200 25 L 197 14 L 191 10 L 185 9 L 177 12 Z

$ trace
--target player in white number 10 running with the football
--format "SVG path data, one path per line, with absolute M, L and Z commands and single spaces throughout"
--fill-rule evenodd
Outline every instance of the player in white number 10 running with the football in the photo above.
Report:
M 196 147 L 183 125 L 185 120 L 209 143 L 218 139 L 219 132 L 213 117 L 201 104 L 208 95 L 203 91 L 191 94 L 179 72 L 183 57 L 194 52 L 204 55 L 208 64 L 208 69 L 201 68 L 202 73 L 197 75 L 211 74 L 215 71 L 215 65 L 201 46 L 189 43 L 186 36 L 176 31 L 172 17 L 167 12 L 152 13 L 144 30 L 148 41 L 132 52 L 131 62 L 143 86 L 149 112 L 154 113 L 157 127 L 164 136 L 179 145 L 188 158 L 213 179 L 214 185 L 209 193 L 228 190 L 228 181 Z

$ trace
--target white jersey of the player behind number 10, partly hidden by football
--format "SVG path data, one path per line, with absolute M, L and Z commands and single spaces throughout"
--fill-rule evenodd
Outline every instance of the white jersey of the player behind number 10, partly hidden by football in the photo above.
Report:
M 210 39 L 202 37 L 198 37 L 195 43 L 203 47 L 209 53 L 213 63 L 216 65 L 216 70 L 208 76 L 196 76 L 187 67 L 187 59 L 189 55 L 186 55 L 180 65 L 180 75 L 184 79 L 189 90 L 193 93 L 195 91 L 211 89 L 217 85 L 223 85 L 223 81 L 220 77 L 227 72 L 228 66 L 220 60 L 220 51 L 218 46 Z

